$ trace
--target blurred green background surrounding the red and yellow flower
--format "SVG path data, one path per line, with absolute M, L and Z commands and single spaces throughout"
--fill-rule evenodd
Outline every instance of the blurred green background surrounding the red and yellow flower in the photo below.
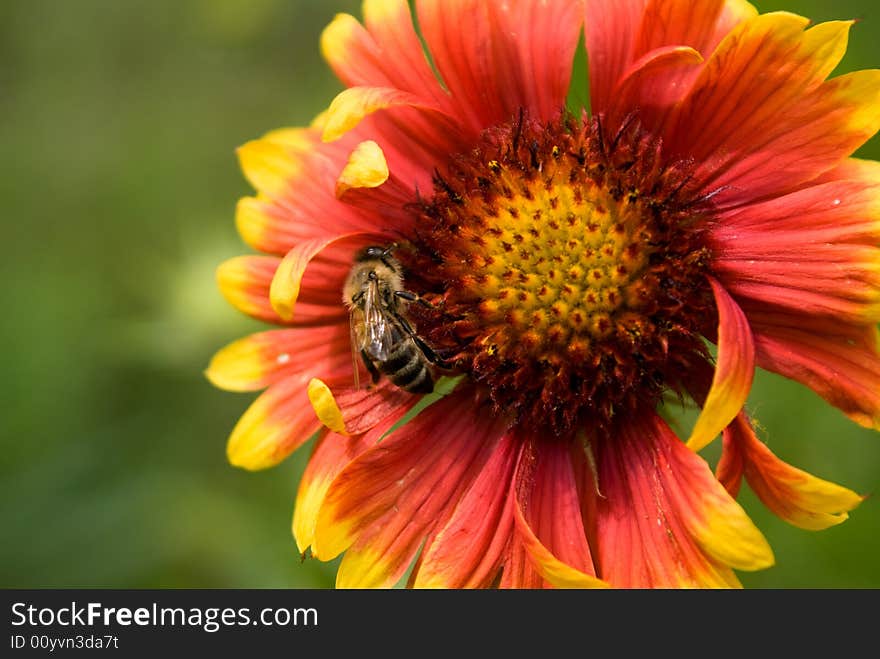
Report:
M 842 68 L 880 67 L 874 0 L 756 4 L 864 19 Z M 229 466 L 254 396 L 202 370 L 260 329 L 214 283 L 248 251 L 234 149 L 340 89 L 318 50 L 338 11 L 359 3 L 0 3 L 0 586 L 332 586 L 335 565 L 301 563 L 289 531 L 309 447 L 265 472 Z M 880 158 L 880 141 L 861 155 Z M 784 459 L 880 490 L 876 433 L 767 374 L 752 409 Z M 880 587 L 877 497 L 819 533 L 740 500 L 778 563 L 746 586 Z

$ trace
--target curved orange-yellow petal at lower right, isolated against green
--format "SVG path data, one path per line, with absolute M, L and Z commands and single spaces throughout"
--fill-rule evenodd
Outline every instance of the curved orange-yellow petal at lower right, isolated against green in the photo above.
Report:
M 745 415 L 732 424 L 727 448 L 739 454 L 746 480 L 764 505 L 799 528 L 818 531 L 840 524 L 864 500 L 780 460 L 757 438 Z

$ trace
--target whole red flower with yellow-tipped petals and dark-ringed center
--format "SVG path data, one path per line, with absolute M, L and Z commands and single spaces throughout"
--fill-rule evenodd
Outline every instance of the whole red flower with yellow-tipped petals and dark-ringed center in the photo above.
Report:
M 337 16 L 321 47 L 346 89 L 239 150 L 238 229 L 267 255 L 220 287 L 281 329 L 207 374 L 266 389 L 233 464 L 317 434 L 300 551 L 344 552 L 346 587 L 413 564 L 416 587 L 727 587 L 774 561 L 743 476 L 796 526 L 846 519 L 862 497 L 774 455 L 744 404 L 759 366 L 880 426 L 880 165 L 851 157 L 880 71 L 829 78 L 851 22 L 742 0 L 415 9 L 420 32 L 404 0 Z M 591 110 L 569 113 L 582 33 Z M 445 395 L 354 387 L 342 291 L 368 246 L 422 302 L 379 304 Z M 685 441 L 670 398 L 701 408 Z

